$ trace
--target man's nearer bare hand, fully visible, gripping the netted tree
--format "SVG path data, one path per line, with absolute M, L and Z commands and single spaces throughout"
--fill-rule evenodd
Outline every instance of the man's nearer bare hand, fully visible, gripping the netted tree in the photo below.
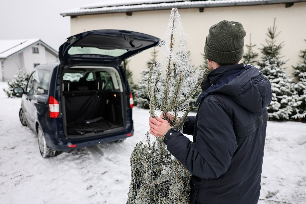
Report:
M 162 135 L 169 129 L 170 124 L 168 121 L 160 118 L 155 117 L 156 120 L 153 117 L 149 117 L 149 125 L 150 125 L 150 133 L 154 135 L 155 137 L 162 137 Z

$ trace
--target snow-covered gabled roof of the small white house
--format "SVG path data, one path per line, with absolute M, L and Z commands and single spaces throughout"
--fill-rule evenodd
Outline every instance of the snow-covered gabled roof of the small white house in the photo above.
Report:
M 40 39 L 17 39 L 17 40 L 0 40 L 0 58 L 8 58 L 19 54 L 33 44 L 40 43 L 47 50 L 58 56 L 58 52 Z

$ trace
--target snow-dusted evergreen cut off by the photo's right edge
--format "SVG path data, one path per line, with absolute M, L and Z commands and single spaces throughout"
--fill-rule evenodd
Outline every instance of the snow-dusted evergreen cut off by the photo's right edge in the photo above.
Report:
M 306 40 L 305 40 L 306 41 Z M 299 55 L 302 57 L 303 61 L 300 61 L 296 67 L 293 66 L 295 69 L 294 75 L 299 77 L 299 82 L 295 84 L 295 88 L 299 95 L 297 102 L 300 106 L 294 109 L 293 118 L 302 118 L 306 117 L 306 49 L 301 50 Z

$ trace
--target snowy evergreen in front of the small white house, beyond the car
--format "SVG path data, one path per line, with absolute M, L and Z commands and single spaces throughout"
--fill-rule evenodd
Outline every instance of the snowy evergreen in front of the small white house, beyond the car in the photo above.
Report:
M 8 82 L 9 88 L 3 89 L 3 91 L 6 93 L 8 98 L 16 97 L 16 94 L 13 92 L 14 88 L 17 87 L 25 88 L 29 79 L 29 75 L 30 73 L 25 68 L 17 69 L 15 71 L 13 79 Z M 21 95 L 19 95 L 19 97 L 21 97 Z

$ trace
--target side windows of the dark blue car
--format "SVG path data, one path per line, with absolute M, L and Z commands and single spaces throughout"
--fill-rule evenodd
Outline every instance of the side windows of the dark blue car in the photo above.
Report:
M 26 91 L 30 95 L 48 94 L 50 72 L 47 70 L 37 70 L 29 78 Z

